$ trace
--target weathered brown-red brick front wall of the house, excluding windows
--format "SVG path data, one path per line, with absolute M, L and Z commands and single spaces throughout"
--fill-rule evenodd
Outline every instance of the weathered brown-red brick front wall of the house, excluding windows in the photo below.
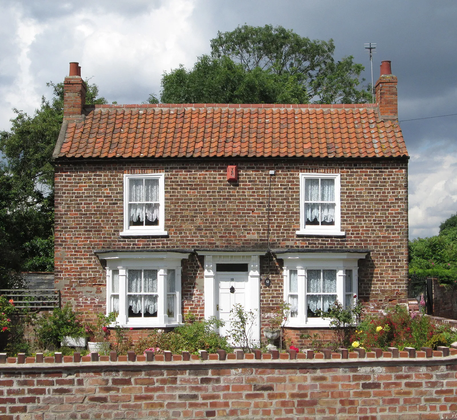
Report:
M 239 166 L 229 184 L 228 164 Z M 359 297 L 371 310 L 403 299 L 408 278 L 407 161 L 181 160 L 58 163 L 55 175 L 55 276 L 63 301 L 92 313 L 105 309 L 105 277 L 96 249 L 267 248 L 271 178 L 271 248 L 369 248 L 360 261 Z M 165 173 L 169 237 L 121 237 L 123 174 Z M 341 175 L 345 237 L 297 237 L 299 173 Z M 202 258 L 183 262 L 183 313 L 203 314 Z M 261 310 L 282 300 L 282 273 L 271 260 L 271 286 L 261 284 Z M 266 273 L 262 258 L 262 274 Z M 198 284 L 197 284 L 198 283 Z

